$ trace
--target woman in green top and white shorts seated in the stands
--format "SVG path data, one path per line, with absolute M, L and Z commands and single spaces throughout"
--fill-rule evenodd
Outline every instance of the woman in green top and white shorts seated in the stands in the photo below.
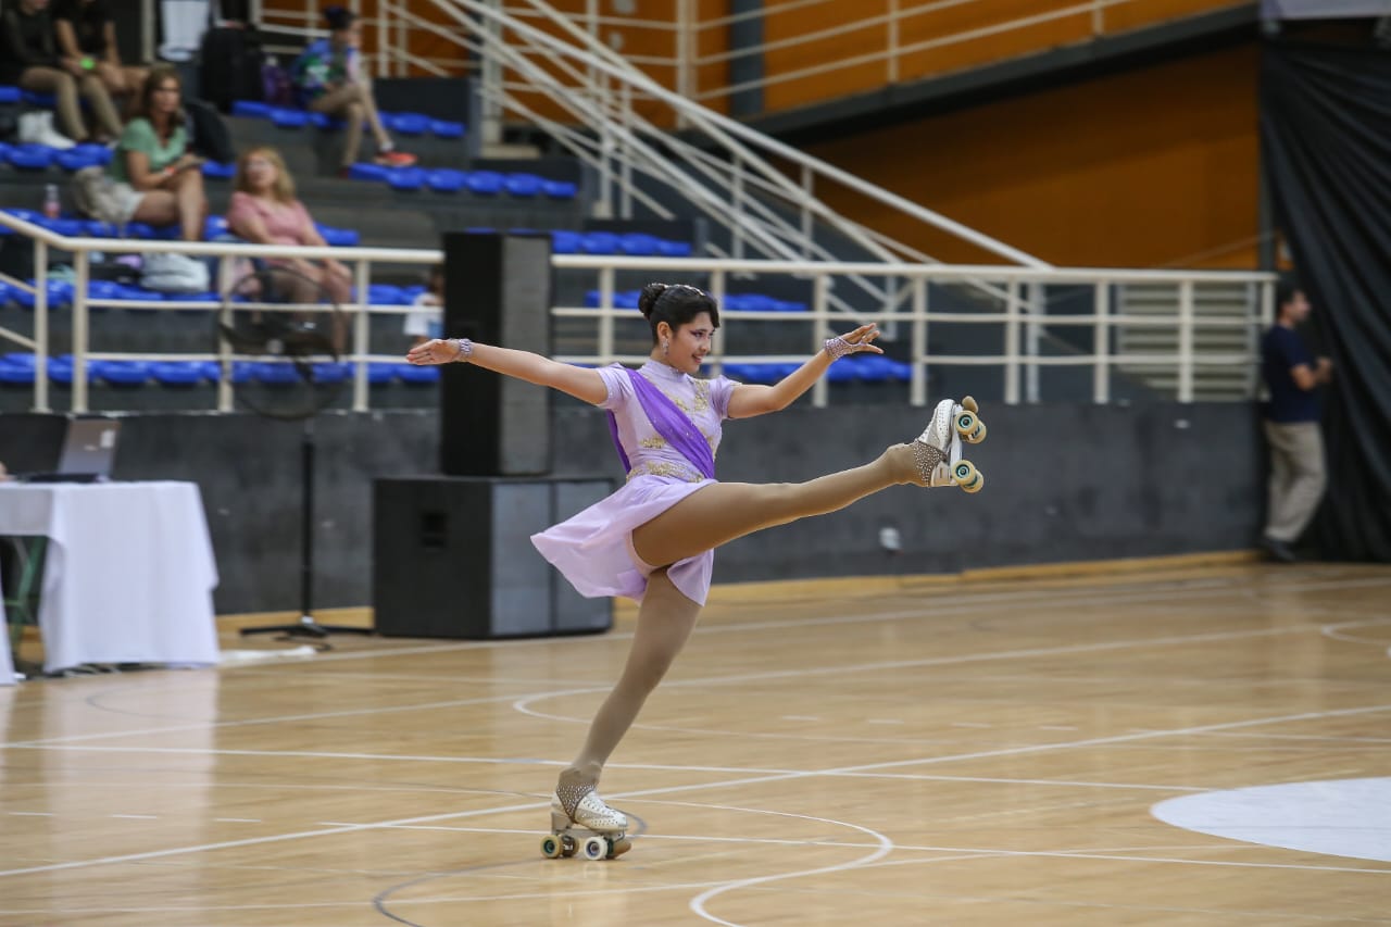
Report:
M 115 181 L 115 220 L 172 225 L 184 241 L 199 241 L 207 220 L 203 159 L 189 154 L 179 100 L 178 74 L 168 65 L 150 68 L 138 114 L 125 125 L 107 168 Z

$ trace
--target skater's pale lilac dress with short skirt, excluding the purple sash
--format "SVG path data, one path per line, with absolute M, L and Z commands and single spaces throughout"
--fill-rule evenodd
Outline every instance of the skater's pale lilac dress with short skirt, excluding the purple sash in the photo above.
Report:
M 531 536 L 531 543 L 570 580 L 580 594 L 626 596 L 641 600 L 654 566 L 633 551 L 633 529 L 644 525 L 691 493 L 714 483 L 662 438 L 620 365 L 600 369 L 608 398 L 601 409 L 613 413 L 618 440 L 629 459 L 627 483 L 587 509 Z M 638 369 L 700 429 L 711 452 L 719 450 L 721 423 L 727 418 L 733 380 L 697 380 L 665 363 L 648 360 Z M 683 596 L 701 605 L 709 593 L 715 551 L 677 561 L 666 575 Z

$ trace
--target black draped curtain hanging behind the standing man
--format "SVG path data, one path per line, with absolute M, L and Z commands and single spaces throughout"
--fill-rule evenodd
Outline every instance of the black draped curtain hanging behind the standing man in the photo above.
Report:
M 1391 52 L 1269 43 L 1260 138 L 1276 223 L 1334 362 L 1312 533 L 1330 560 L 1391 562 Z

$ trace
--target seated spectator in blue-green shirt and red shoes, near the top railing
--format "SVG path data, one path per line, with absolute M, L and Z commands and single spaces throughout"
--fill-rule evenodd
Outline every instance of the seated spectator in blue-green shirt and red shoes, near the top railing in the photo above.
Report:
M 378 164 L 389 167 L 415 164 L 415 154 L 398 152 L 387 129 L 381 127 L 377 102 L 371 95 L 371 79 L 363 74 L 362 56 L 357 53 L 362 24 L 356 14 L 342 7 L 328 7 L 324 10 L 324 19 L 328 21 L 330 36 L 319 39 L 295 58 L 291 78 L 295 81 L 300 106 L 344 120 L 339 174 L 345 175 L 357 160 L 363 120 L 367 120 L 371 136 L 377 142 Z

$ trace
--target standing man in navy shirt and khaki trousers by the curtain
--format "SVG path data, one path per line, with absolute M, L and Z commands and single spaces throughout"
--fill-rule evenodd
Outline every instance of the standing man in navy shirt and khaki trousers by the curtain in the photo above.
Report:
M 1319 386 L 1333 377 L 1333 362 L 1309 354 L 1295 326 L 1309 317 L 1309 299 L 1292 283 L 1276 290 L 1276 324 L 1260 342 L 1262 374 L 1270 401 L 1264 408 L 1270 445 L 1270 504 L 1262 547 L 1271 558 L 1296 560 L 1291 544 L 1303 533 L 1326 483 L 1319 431 Z

